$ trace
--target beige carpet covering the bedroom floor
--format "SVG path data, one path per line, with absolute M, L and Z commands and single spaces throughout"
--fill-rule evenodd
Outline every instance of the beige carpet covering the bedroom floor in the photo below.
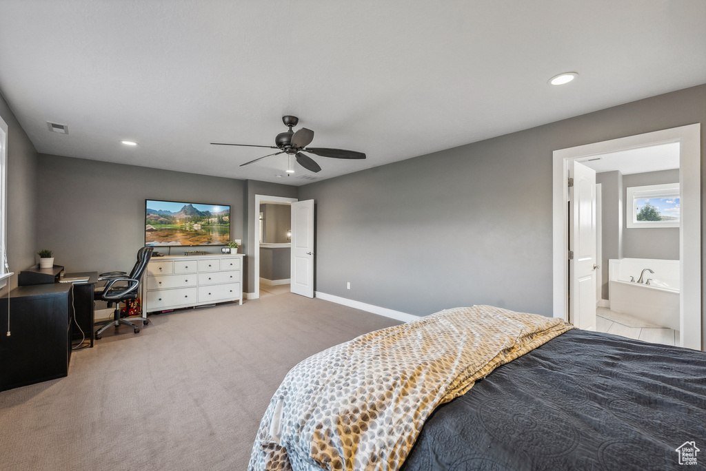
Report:
M 291 367 L 399 324 L 289 293 L 150 319 L 73 353 L 66 378 L 0 393 L 0 470 L 245 470 Z

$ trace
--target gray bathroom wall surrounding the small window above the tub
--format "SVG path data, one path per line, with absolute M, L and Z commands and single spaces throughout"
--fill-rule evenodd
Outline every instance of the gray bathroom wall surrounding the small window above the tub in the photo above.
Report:
M 623 214 L 628 214 L 627 190 L 629 187 L 678 183 L 678 181 L 678 169 L 623 175 Z M 679 259 L 678 227 L 628 228 L 626 219 L 623 218 L 624 257 Z

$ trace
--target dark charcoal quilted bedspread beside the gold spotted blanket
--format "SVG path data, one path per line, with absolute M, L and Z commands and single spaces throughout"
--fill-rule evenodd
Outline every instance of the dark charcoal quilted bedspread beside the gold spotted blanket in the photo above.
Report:
M 706 353 L 574 329 L 436 408 L 402 469 L 667 470 L 690 454 L 706 469 Z

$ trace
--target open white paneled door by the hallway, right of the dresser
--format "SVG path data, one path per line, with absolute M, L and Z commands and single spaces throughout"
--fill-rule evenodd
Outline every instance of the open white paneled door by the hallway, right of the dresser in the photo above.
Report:
M 313 298 L 313 200 L 292 203 L 292 293 Z

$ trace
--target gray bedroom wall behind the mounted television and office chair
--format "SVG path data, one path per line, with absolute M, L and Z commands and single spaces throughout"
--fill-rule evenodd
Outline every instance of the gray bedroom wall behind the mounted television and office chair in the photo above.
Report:
M 129 271 L 145 244 L 145 199 L 230 204 L 231 236 L 244 238 L 244 181 L 47 154 L 39 163 L 37 246 L 66 271 Z

